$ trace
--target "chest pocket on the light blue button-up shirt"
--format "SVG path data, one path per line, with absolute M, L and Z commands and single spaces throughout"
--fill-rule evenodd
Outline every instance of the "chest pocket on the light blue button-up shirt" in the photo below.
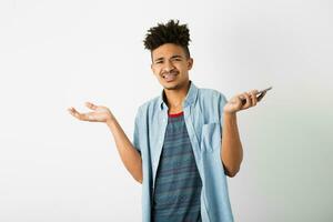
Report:
M 213 152 L 221 149 L 221 127 L 219 122 L 202 125 L 200 148 L 202 151 Z

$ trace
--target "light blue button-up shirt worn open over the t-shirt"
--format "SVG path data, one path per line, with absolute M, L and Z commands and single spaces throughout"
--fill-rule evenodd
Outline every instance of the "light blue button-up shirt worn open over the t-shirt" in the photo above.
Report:
M 196 88 L 190 81 L 183 102 L 185 125 L 202 180 L 201 216 L 203 222 L 233 222 L 226 175 L 221 161 L 224 94 Z M 151 222 L 152 194 L 163 147 L 168 105 L 163 91 L 143 103 L 135 117 L 133 144 L 142 158 L 142 221 Z

